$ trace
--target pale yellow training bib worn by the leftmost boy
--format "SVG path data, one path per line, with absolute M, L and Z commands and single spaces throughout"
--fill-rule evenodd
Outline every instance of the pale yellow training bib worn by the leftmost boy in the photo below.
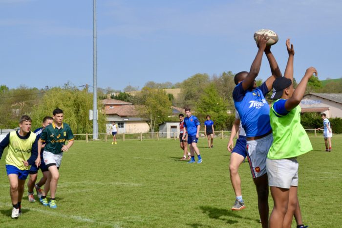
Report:
M 31 165 L 24 166 L 22 161 L 29 160 L 32 147 L 37 150 L 36 134 L 30 132 L 27 137 L 18 137 L 17 131 L 9 133 L 9 143 L 6 156 L 6 164 L 16 166 L 20 170 L 29 170 Z M 36 151 L 37 152 L 37 151 Z

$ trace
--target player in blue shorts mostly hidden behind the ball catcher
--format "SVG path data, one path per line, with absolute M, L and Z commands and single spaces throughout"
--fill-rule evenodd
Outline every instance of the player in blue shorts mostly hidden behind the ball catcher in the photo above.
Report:
M 236 145 L 234 146 L 233 139 L 237 132 L 239 132 L 239 135 L 238 139 L 236 140 Z M 233 149 L 231 147 L 233 147 Z M 233 205 L 232 210 L 242 210 L 246 208 L 246 206 L 242 199 L 241 179 L 238 173 L 238 169 L 240 164 L 245 160 L 247 152 L 246 133 L 242 127 L 240 116 L 237 113 L 237 111 L 235 111 L 235 120 L 232 127 L 232 133 L 231 137 L 229 138 L 227 149 L 229 152 L 232 153 L 229 164 L 230 178 L 235 192 L 235 204 Z

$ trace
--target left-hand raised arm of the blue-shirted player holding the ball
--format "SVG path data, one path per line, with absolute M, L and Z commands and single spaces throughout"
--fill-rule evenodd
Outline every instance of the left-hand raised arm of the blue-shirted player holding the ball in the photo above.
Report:
M 270 38 L 265 34 L 262 34 L 257 37 L 256 46 L 258 47 L 258 50 L 256 53 L 256 58 L 254 59 L 252 63 L 251 69 L 247 77 L 245 78 L 245 80 L 242 81 L 242 89 L 245 91 L 251 86 L 253 86 L 256 76 L 259 74 L 262 55 L 266 48 L 266 43 L 269 39 Z

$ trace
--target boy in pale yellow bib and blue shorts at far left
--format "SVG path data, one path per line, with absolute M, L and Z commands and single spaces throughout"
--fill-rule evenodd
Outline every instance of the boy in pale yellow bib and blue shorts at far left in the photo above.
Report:
M 31 132 L 31 118 L 22 115 L 18 131 L 13 131 L 0 142 L 0 159 L 3 150 L 8 146 L 6 156 L 6 171 L 10 184 L 10 196 L 13 205 L 12 218 L 21 215 L 21 199 L 24 193 L 25 180 L 30 165 L 37 159 L 37 137 Z M 37 163 L 38 164 L 38 161 Z

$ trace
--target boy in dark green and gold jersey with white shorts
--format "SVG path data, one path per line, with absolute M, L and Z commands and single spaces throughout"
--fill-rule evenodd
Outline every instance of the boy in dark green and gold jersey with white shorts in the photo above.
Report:
M 52 112 L 53 123 L 48 125 L 42 132 L 41 138 L 38 141 L 38 155 L 41 153 L 42 144 L 46 142 L 43 151 L 43 159 L 46 164 L 46 167 L 49 170 L 49 176 L 46 180 L 43 195 L 40 198 L 40 202 L 50 208 L 56 208 L 56 200 L 55 194 L 57 190 L 57 183 L 60 177 L 58 172 L 63 152 L 68 151 L 68 149 L 74 143 L 74 135 L 68 124 L 63 122 L 64 115 L 61 109 L 55 109 Z M 65 145 L 65 141 L 68 141 L 68 144 Z M 38 157 L 40 163 L 40 157 Z M 50 201 L 47 202 L 46 195 L 50 190 Z

